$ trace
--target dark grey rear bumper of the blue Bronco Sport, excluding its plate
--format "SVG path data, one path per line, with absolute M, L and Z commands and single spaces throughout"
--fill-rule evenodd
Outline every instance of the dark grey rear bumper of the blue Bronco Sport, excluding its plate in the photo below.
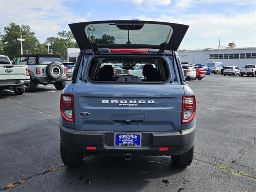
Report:
M 114 133 L 105 131 L 82 131 L 60 125 L 61 143 L 70 152 L 86 155 L 123 156 L 162 156 L 180 155 L 192 148 L 196 126 L 180 131 L 140 132 L 142 147 L 114 147 Z M 125 133 L 125 132 L 124 132 Z M 128 132 L 127 132 L 128 133 Z M 86 150 L 86 146 L 96 146 L 96 150 Z M 159 151 L 159 147 L 169 147 Z

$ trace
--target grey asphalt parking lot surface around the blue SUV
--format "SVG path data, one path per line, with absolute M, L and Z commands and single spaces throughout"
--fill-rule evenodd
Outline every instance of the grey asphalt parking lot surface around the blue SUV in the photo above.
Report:
M 256 78 L 208 75 L 188 84 L 197 98 L 194 161 L 90 156 L 63 166 L 59 98 L 52 85 L 16 96 L 0 92 L 0 190 L 252 191 L 256 189 Z M 52 87 L 51 87 L 52 86 Z

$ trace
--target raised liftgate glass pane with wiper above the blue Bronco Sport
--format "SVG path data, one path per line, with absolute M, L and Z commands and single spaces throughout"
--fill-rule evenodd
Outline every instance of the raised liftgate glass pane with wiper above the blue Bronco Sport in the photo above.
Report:
M 90 24 L 84 29 L 89 41 L 97 44 L 160 45 L 169 43 L 173 29 L 163 24 Z

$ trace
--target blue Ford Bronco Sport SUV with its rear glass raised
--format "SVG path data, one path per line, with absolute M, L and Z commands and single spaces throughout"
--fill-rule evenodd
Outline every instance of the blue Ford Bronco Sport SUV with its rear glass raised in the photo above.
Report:
M 138 20 L 69 26 L 80 54 L 60 98 L 64 164 L 106 155 L 171 156 L 176 166 L 190 165 L 196 100 L 176 52 L 188 26 Z M 128 74 L 116 75 L 113 65 Z M 131 75 L 136 66 L 141 74 Z

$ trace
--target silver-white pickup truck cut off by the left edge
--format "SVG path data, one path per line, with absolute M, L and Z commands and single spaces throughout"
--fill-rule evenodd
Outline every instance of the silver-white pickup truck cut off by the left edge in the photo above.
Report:
M 29 68 L 13 65 L 8 56 L 0 55 L 0 91 L 12 88 L 16 95 L 22 95 L 29 84 Z

